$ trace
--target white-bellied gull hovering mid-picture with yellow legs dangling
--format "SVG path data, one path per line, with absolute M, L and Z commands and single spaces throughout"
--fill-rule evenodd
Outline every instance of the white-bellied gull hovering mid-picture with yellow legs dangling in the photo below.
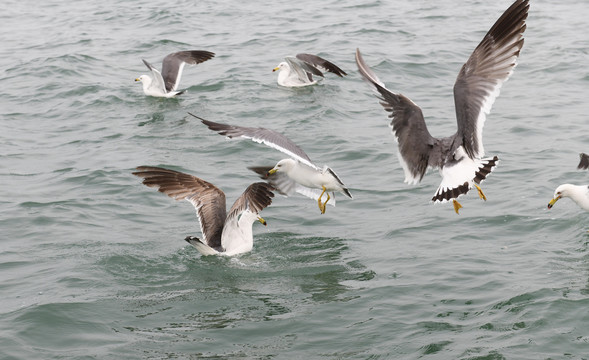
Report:
M 270 182 L 279 193 L 288 196 L 298 192 L 315 199 L 322 214 L 325 214 L 325 206 L 330 199 L 333 198 L 330 205 L 335 206 L 335 191 L 352 198 L 348 188 L 331 168 L 327 165 L 320 168 L 313 164 L 309 156 L 286 136 L 270 129 L 219 124 L 190 115 L 200 119 L 209 129 L 229 139 L 234 137 L 250 139 L 289 155 L 292 159 L 282 159 L 274 167 L 250 167 Z M 321 201 L 323 194 L 327 195 L 325 202 Z

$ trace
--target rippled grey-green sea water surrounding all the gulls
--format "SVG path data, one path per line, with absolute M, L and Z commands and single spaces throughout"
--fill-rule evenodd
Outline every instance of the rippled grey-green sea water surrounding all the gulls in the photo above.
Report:
M 587 359 L 588 214 L 548 211 L 586 142 L 589 6 L 532 0 L 519 65 L 487 117 L 501 163 L 456 215 L 440 177 L 403 183 L 354 51 L 455 131 L 452 86 L 506 1 L 4 1 L 0 12 L 0 358 Z M 217 56 L 177 99 L 145 97 L 144 58 Z M 348 76 L 284 89 L 311 52 Z M 277 196 L 254 249 L 201 257 L 194 210 L 131 175 L 202 177 L 232 202 L 282 155 L 189 117 L 264 126 L 329 164 L 353 200 L 320 215 Z

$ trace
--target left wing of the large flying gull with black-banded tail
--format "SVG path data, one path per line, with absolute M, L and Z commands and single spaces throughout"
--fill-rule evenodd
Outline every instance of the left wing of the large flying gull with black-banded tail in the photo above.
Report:
M 425 175 L 435 142 L 427 130 L 421 108 L 408 97 L 388 90 L 366 65 L 359 49 L 356 50 L 356 63 L 360 74 L 378 94 L 380 104 L 390 112 L 391 126 L 399 144 L 399 159 L 405 171 L 405 182 L 418 183 Z

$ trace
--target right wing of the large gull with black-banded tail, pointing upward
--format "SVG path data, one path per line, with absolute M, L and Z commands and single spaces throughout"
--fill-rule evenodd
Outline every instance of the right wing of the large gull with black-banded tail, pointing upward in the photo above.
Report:
M 457 136 L 471 159 L 484 155 L 486 114 L 517 64 L 528 9 L 528 0 L 516 0 L 503 13 L 462 66 L 454 84 Z

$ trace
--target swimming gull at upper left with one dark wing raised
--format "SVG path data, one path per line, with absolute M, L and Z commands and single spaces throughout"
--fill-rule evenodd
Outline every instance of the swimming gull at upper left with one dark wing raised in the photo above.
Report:
M 162 63 L 162 72 L 160 73 L 147 61 L 141 59 L 145 66 L 151 70 L 149 75 L 141 75 L 135 81 L 141 81 L 145 95 L 156 97 L 174 97 L 184 93 L 186 90 L 178 91 L 180 78 L 184 65 L 196 65 L 212 59 L 214 53 L 204 50 L 179 51 L 169 54 L 164 58 Z

